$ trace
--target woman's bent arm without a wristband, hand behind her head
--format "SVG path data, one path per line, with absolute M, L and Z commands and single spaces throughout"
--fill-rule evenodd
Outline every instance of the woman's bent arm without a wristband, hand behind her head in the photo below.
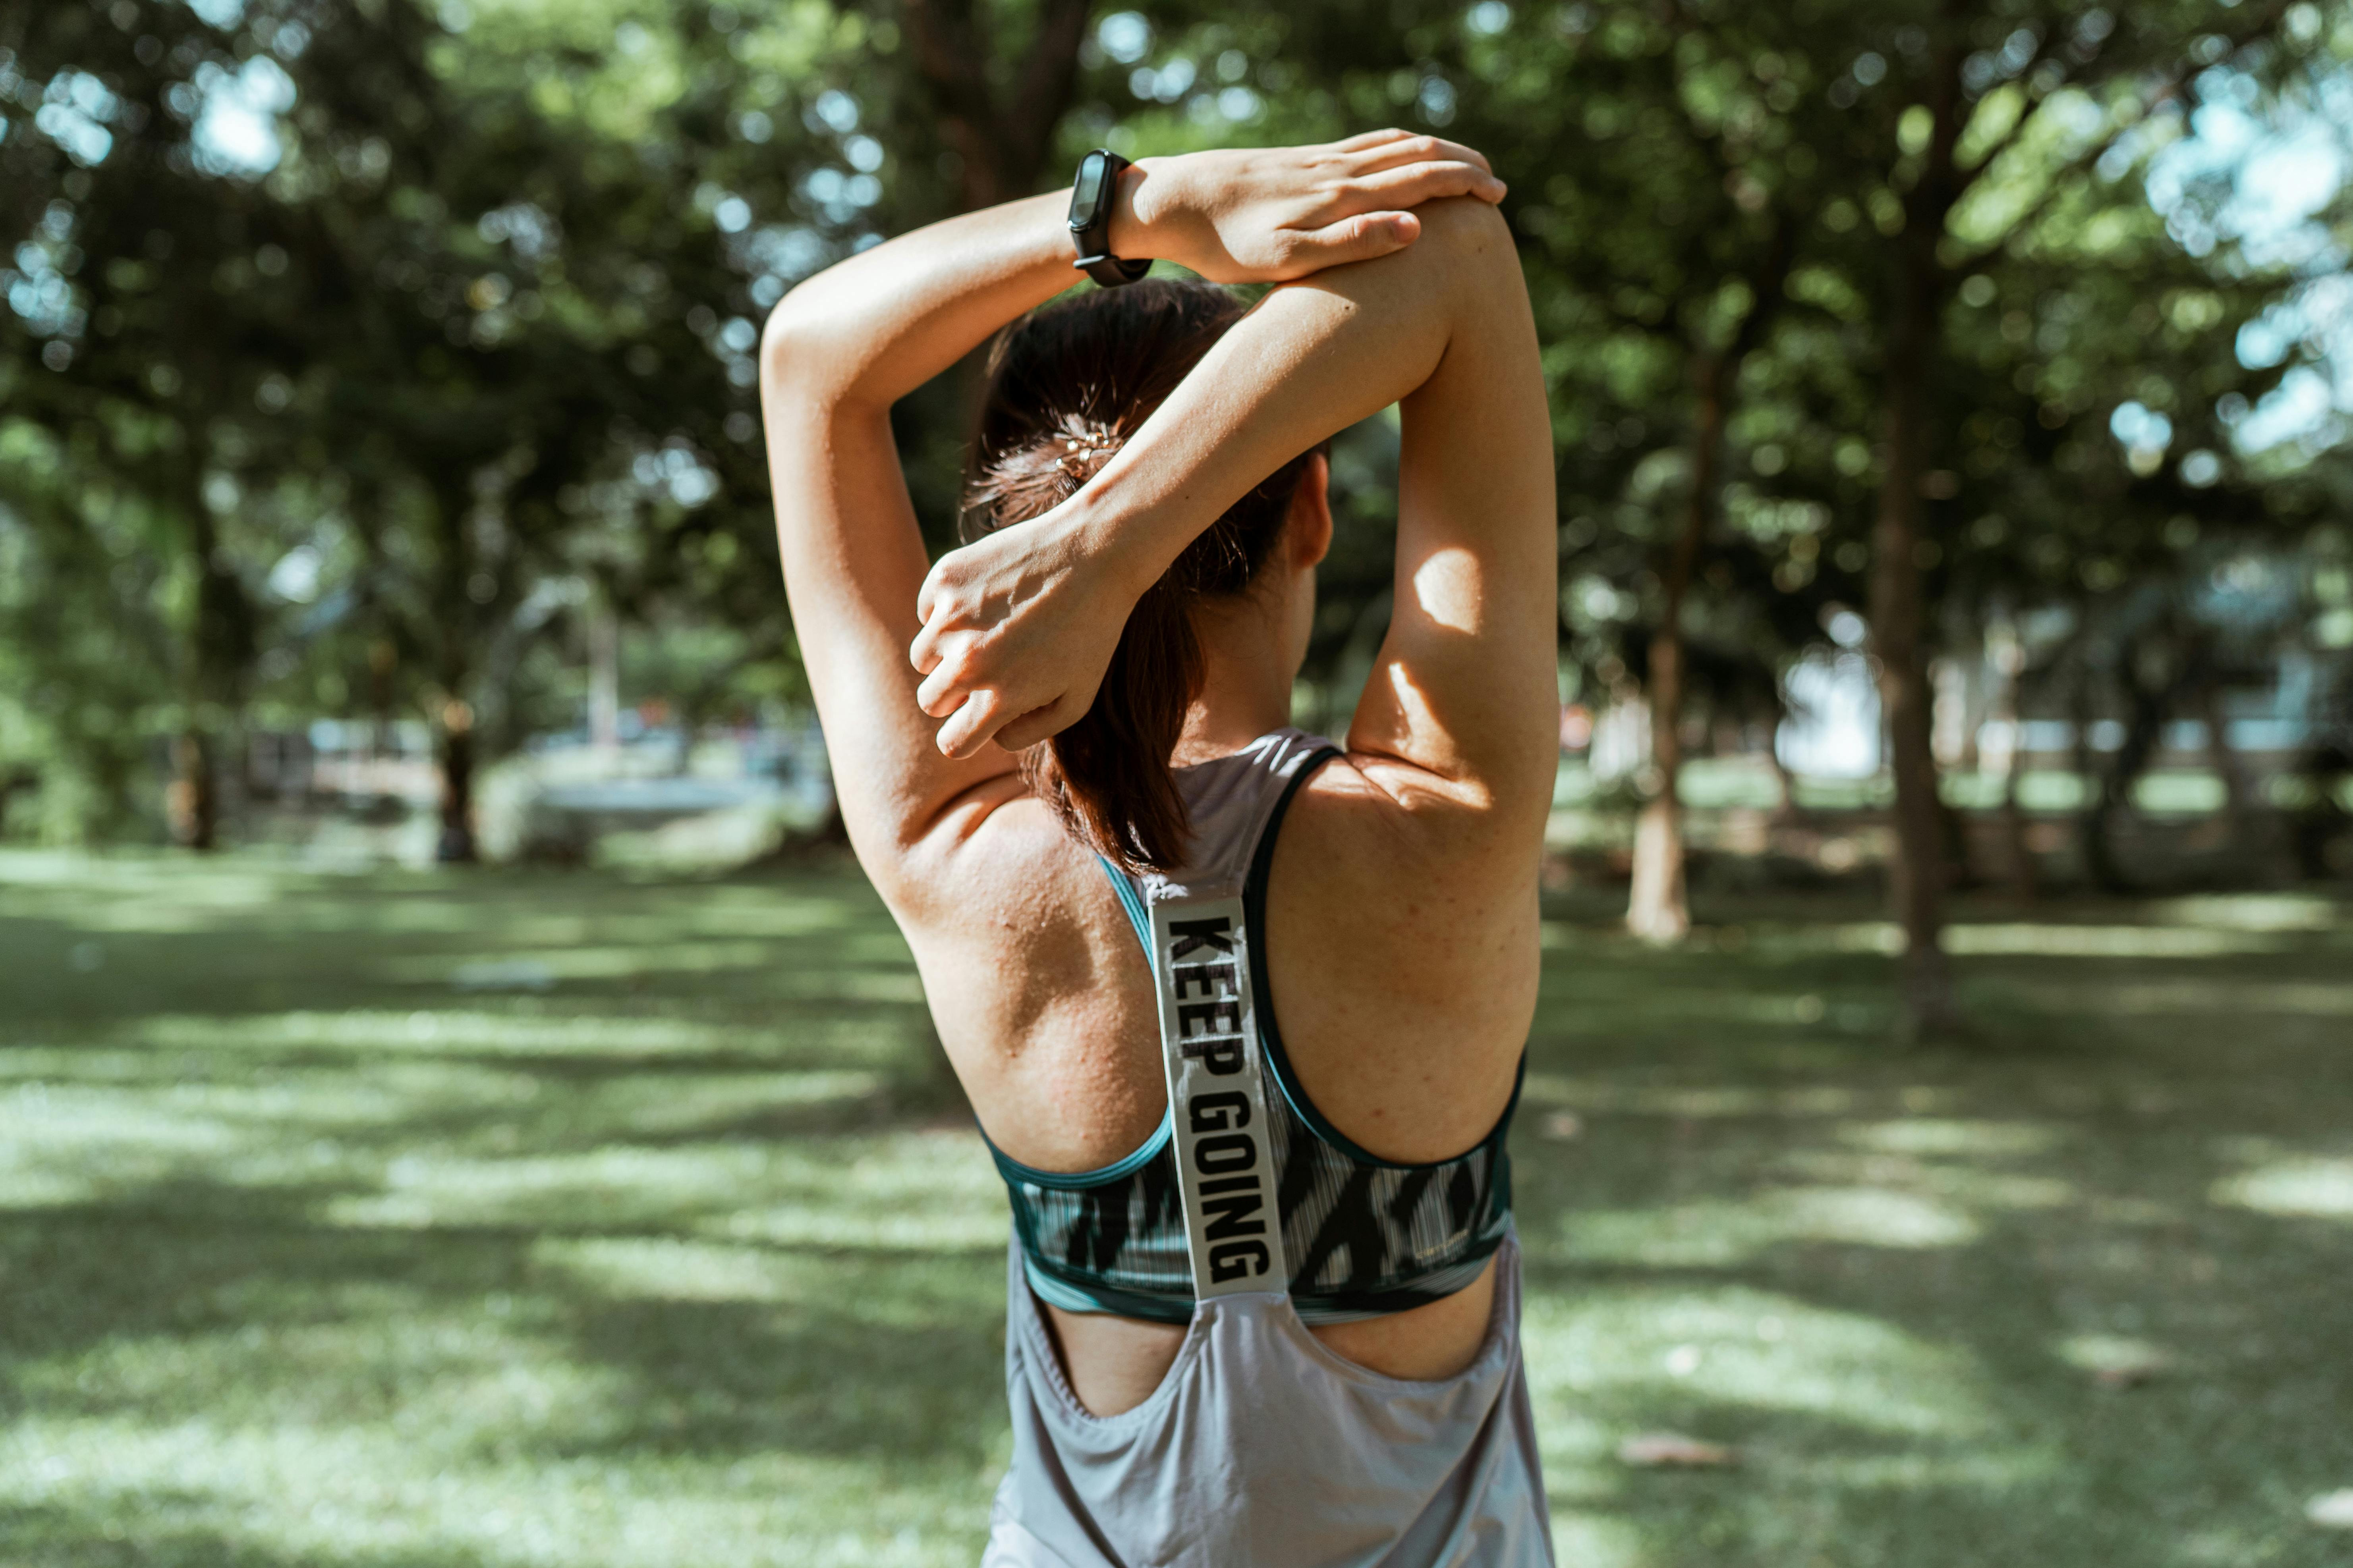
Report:
M 1021 748 L 1073 722 L 1127 607 L 1186 543 L 1264 475 L 1395 402 L 1395 611 L 1348 748 L 1398 795 L 1541 820 L 1558 609 L 1537 331 L 1492 207 L 1435 202 L 1421 223 L 1400 254 L 1268 294 L 1078 496 L 932 569 L 913 658 L 925 710 L 946 719 L 941 750 Z M 1384 764 L 1398 766 L 1384 778 Z

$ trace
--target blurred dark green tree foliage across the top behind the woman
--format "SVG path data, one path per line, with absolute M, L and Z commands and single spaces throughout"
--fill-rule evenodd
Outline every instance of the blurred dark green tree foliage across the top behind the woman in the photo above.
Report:
M 2165 158 L 2200 103 L 2318 101 L 2332 26 L 2024 0 L 1934 26 L 1866 0 L 31 7 L 0 28 L 0 416 L 28 430 L 12 559 L 45 588 L 14 583 L 0 642 L 52 696 L 16 698 L 0 745 L 113 823 L 141 748 L 247 717 L 454 698 L 496 752 L 565 722 L 598 602 L 678 639 L 656 663 L 689 708 L 791 693 L 751 388 L 786 287 L 1054 186 L 1094 143 L 1381 122 L 1513 181 L 1562 630 L 1605 686 L 1642 670 L 1694 505 L 1682 621 L 1715 701 L 1772 705 L 1821 614 L 1864 597 L 1922 202 L 1932 635 L 2089 616 L 2153 574 L 2299 550 L 2329 505 L 2329 454 L 2231 435 L 2311 357 L 2294 329 L 2257 367 L 2238 350 L 2318 263 L 2233 237 L 2228 165 Z M 896 416 L 934 541 L 969 400 L 967 369 Z M 2118 409 L 2167 442 L 2113 437 Z M 1339 463 L 1353 527 L 1308 672 L 1332 701 L 1386 618 L 1386 442 L 1353 433 Z M 96 569 L 132 534 L 136 564 Z

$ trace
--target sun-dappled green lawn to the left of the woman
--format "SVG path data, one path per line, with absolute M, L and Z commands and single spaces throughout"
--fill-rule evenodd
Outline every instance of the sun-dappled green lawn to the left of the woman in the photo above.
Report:
M 1002 1197 L 861 884 L 209 879 L 0 919 L 33 1561 L 969 1559 Z

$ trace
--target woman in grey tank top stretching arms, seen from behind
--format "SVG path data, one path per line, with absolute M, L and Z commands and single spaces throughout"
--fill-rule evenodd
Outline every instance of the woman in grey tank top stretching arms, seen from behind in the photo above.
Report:
M 1014 1204 L 988 1563 L 1551 1563 L 1504 1128 L 1555 766 L 1553 463 L 1501 193 L 1402 132 L 1146 160 L 1113 256 L 1280 287 L 1038 310 L 1075 280 L 1040 195 L 769 320 L 842 816 Z M 1009 322 L 974 543 L 927 574 L 889 407 Z M 1395 614 L 1329 748 L 1287 729 L 1320 447 L 1388 404 Z

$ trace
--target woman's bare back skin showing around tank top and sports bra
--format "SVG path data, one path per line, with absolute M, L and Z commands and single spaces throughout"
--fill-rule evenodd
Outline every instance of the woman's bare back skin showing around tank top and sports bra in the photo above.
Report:
M 1494 1128 L 1537 997 L 1534 853 L 1518 867 L 1494 853 L 1525 830 L 1414 785 L 1381 759 L 1318 769 L 1275 839 L 1257 938 L 1273 990 L 1259 1006 L 1299 1086 L 1344 1138 L 1400 1164 L 1452 1159 Z M 988 1138 L 1042 1171 L 1096 1171 L 1167 1110 L 1151 966 L 1101 865 L 1038 802 L 991 816 L 967 844 L 965 870 L 988 872 L 960 900 L 955 973 L 927 966 L 925 987 L 962 1004 L 941 1009 L 941 1032 Z M 1445 1378 L 1478 1352 L 1489 1305 L 1492 1272 L 1424 1307 L 1311 1331 L 1377 1373 Z M 1099 1415 L 1151 1396 L 1184 1340 L 1172 1324 L 1059 1307 L 1049 1319 L 1073 1392 Z

